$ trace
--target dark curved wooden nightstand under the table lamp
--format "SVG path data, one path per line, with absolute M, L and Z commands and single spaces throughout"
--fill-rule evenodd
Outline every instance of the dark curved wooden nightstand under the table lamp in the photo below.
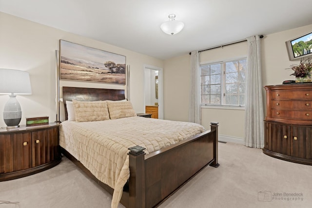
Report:
M 0 181 L 32 175 L 60 161 L 59 124 L 0 129 Z

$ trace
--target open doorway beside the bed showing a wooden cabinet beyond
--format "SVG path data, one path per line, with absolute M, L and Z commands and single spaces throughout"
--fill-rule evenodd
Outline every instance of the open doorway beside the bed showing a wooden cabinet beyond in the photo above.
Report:
M 163 119 L 162 68 L 144 65 L 144 112 Z

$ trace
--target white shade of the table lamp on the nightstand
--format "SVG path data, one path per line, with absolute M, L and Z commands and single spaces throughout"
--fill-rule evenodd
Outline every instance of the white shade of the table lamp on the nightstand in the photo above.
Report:
M 0 69 L 0 94 L 30 95 L 31 85 L 28 72 Z

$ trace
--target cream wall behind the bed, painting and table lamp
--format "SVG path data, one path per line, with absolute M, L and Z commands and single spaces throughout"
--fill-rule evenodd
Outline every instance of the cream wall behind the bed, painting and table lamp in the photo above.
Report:
M 46 115 L 56 119 L 55 107 L 55 50 L 59 39 L 126 56 L 130 64 L 130 100 L 137 113 L 144 112 L 143 66 L 163 68 L 163 60 L 138 54 L 123 48 L 81 37 L 0 12 L 0 68 L 27 71 L 30 74 L 32 95 L 18 95 L 22 108 L 20 124 L 25 117 Z M 124 89 L 124 85 L 62 81 L 62 85 Z M 8 95 L 0 95 L 0 127 L 5 126 L 3 108 Z

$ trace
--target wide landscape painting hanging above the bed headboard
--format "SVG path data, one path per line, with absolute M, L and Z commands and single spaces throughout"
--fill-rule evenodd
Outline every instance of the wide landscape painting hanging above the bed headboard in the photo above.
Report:
M 126 57 L 59 40 L 60 79 L 126 84 Z

